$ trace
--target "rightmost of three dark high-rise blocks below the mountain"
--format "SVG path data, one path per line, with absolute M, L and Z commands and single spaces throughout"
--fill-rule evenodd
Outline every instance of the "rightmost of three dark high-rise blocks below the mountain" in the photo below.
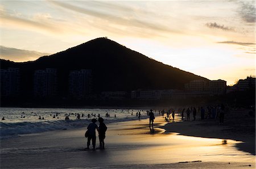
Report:
M 81 69 L 69 73 L 69 95 L 82 99 L 92 94 L 92 70 Z

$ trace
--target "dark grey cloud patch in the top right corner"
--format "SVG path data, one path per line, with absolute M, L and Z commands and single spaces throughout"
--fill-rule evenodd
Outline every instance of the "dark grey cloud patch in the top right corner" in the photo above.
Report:
M 238 9 L 238 14 L 242 18 L 243 21 L 247 23 L 255 23 L 256 15 L 255 15 L 255 1 L 242 1 L 240 2 L 240 7 Z

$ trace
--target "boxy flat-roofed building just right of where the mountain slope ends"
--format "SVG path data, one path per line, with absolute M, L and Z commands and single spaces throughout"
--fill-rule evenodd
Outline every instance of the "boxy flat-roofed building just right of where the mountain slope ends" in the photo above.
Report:
M 210 95 L 223 95 L 226 93 L 226 81 L 218 79 L 216 81 L 209 81 Z

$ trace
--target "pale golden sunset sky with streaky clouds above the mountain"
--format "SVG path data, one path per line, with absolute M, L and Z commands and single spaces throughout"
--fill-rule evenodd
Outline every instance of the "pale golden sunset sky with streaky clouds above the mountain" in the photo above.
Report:
M 255 75 L 255 1 L 0 1 L 0 58 L 33 61 L 108 37 L 232 85 Z

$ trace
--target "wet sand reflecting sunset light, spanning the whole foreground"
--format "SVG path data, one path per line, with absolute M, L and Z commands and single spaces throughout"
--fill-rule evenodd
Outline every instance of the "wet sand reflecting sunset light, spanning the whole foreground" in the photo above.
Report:
M 239 141 L 169 133 L 197 122 L 166 124 L 158 116 L 155 124 L 167 130 L 150 134 L 148 119 L 108 124 L 105 150 L 85 150 L 85 128 L 1 140 L 1 168 L 255 168 L 255 156 L 236 149 Z

